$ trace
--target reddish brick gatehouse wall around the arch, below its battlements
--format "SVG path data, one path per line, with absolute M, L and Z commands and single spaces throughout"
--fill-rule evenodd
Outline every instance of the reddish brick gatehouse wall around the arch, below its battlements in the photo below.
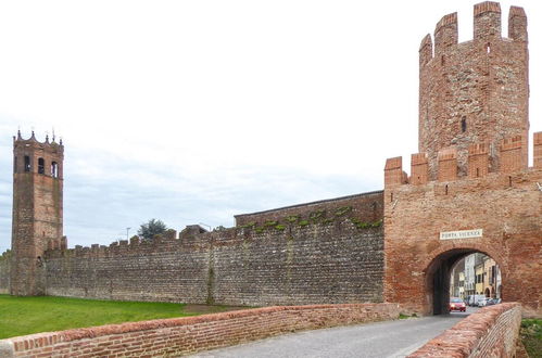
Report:
M 453 263 L 482 252 L 501 268 L 503 298 L 541 316 L 542 192 L 537 182 L 542 170 L 530 169 L 387 188 L 385 299 L 431 314 L 437 270 L 450 280 Z M 440 232 L 470 229 L 482 229 L 483 236 L 440 240 Z M 445 298 L 442 304 L 448 305 Z

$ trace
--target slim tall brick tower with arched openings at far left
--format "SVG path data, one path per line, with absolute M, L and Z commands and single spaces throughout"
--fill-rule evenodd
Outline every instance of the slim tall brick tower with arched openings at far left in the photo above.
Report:
M 64 146 L 13 137 L 12 295 L 45 294 L 43 253 L 65 246 L 62 236 Z

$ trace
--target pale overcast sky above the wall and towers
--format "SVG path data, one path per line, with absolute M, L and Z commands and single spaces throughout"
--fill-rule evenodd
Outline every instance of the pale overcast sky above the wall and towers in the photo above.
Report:
M 68 245 L 150 218 L 234 215 L 382 189 L 417 152 L 418 48 L 474 1 L 0 2 L 0 253 L 12 136 L 62 137 Z M 526 9 L 530 123 L 542 130 L 542 2 Z M 506 30 L 503 31 L 506 35 Z

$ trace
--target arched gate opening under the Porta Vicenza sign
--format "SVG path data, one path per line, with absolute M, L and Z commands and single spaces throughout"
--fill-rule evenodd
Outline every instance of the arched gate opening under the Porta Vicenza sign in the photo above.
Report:
M 433 315 L 449 314 L 451 297 L 476 306 L 482 297 L 502 298 L 502 290 L 499 264 L 479 250 L 446 251 L 426 269 L 426 297 Z

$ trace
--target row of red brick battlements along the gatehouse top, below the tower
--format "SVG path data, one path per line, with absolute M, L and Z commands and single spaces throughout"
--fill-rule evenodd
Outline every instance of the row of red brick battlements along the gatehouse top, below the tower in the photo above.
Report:
M 482 178 L 489 172 L 511 174 L 528 169 L 524 161 L 524 152 L 527 146 L 527 139 L 522 136 L 505 138 L 501 141 L 499 148 L 501 155 L 501 167 L 499 170 L 490 171 L 490 145 L 488 143 L 475 143 L 469 145 L 466 153 L 461 153 L 456 146 L 449 146 L 438 152 L 437 180 L 454 181 L 457 179 Z M 542 170 L 542 131 L 533 135 L 533 166 L 534 170 Z M 467 159 L 468 170 L 459 176 L 458 157 L 464 154 Z M 412 154 L 411 176 L 403 171 L 403 158 L 401 156 L 386 161 L 385 167 L 385 187 L 399 184 L 419 186 L 429 181 L 430 158 L 427 153 Z

